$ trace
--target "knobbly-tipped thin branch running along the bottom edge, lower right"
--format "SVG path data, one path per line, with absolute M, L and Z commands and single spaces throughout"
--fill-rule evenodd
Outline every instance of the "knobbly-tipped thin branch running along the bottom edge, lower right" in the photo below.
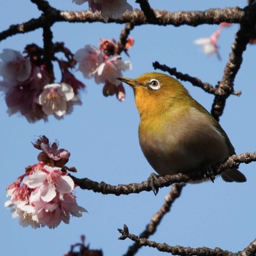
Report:
M 170 246 L 168 244 L 160 244 L 155 241 L 149 241 L 146 238 L 138 238 L 133 234 L 129 233 L 127 225 L 124 225 L 124 230 L 118 228 L 118 231 L 121 233 L 119 239 L 124 240 L 126 238 L 135 241 L 139 246 L 149 246 L 159 250 L 159 252 L 170 252 L 172 255 L 197 255 L 197 256 L 235 256 L 236 254 L 229 251 L 224 251 L 220 248 L 211 249 L 208 247 L 184 247 L 184 246 Z

